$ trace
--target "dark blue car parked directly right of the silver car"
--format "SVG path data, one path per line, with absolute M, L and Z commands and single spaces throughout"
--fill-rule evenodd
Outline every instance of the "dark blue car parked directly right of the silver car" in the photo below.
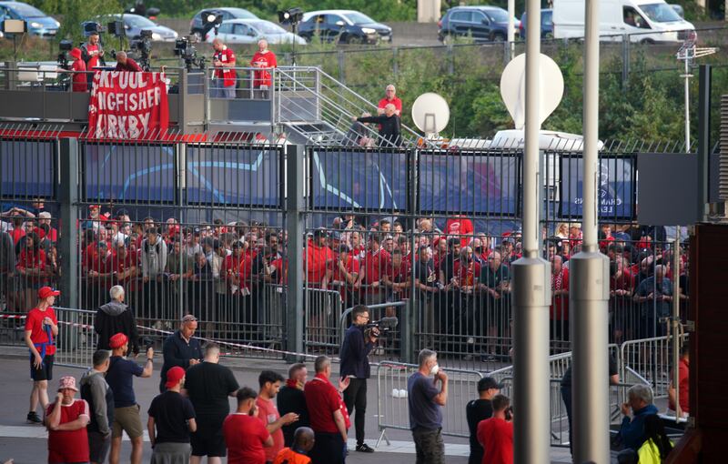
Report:
M 320 10 L 303 15 L 298 35 L 309 42 L 319 35 L 326 42 L 377 44 L 391 42 L 392 28 L 352 10 Z

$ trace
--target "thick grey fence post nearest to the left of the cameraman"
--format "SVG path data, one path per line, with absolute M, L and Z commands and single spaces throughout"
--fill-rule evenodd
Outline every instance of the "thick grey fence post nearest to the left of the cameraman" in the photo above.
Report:
M 288 230 L 288 288 L 286 304 L 286 350 L 303 352 L 303 285 L 301 265 L 303 257 L 304 224 L 304 156 L 305 146 L 286 146 L 286 227 Z M 287 355 L 288 362 L 296 362 L 298 356 Z

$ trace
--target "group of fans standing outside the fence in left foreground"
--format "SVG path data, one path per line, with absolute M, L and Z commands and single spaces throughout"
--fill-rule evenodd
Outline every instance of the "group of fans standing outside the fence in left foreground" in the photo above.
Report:
M 136 362 L 126 316 L 108 316 L 111 336 L 98 336 L 93 366 L 76 387 L 76 378 L 60 379 L 55 401 L 47 395 L 53 379 L 58 320 L 53 305 L 60 294 L 42 287 L 35 308 L 25 321 L 25 341 L 31 350 L 33 388 L 27 421 L 48 429 L 48 462 L 120 461 L 121 441 L 131 440 L 129 461 L 142 462 L 143 423 L 134 378 L 154 372 L 154 348 L 146 349 L 146 362 Z M 112 298 L 118 298 L 112 293 Z M 101 317 L 101 311 L 97 318 Z M 98 323 L 98 321 L 96 321 Z M 125 330 L 126 328 L 126 330 Z M 176 332 L 163 344 L 159 395 L 147 409 L 147 432 L 152 447 L 150 462 L 157 464 L 219 463 L 227 456 L 233 464 L 343 463 L 347 450 L 349 413 L 341 393 L 348 377 L 331 383 L 331 359 L 316 358 L 316 376 L 308 380 L 305 364 L 294 364 L 288 380 L 273 370 L 258 376 L 258 390 L 240 387 L 230 368 L 219 364 L 220 347 L 204 347 L 195 338 L 197 318 L 182 318 Z M 80 391 L 81 398 L 76 399 Z M 228 397 L 237 398 L 230 414 Z M 278 397 L 277 402 L 273 400 Z M 276 404 L 277 403 L 277 404 Z M 37 414 L 40 406 L 42 416 Z M 359 450 L 359 448 L 358 448 Z

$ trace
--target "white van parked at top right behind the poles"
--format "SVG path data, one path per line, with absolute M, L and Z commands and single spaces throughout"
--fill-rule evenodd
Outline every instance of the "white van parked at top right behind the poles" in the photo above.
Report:
M 602 40 L 654 44 L 682 42 L 695 27 L 675 13 L 664 0 L 601 0 L 599 34 Z M 584 0 L 553 0 L 553 36 L 584 36 Z M 692 34 L 689 33 L 692 31 Z

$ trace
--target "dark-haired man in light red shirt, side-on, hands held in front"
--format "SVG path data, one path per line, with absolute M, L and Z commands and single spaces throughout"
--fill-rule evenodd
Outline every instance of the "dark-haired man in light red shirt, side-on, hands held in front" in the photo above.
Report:
M 278 395 L 283 380 L 285 378 L 273 370 L 264 370 L 258 376 L 258 385 L 260 386 L 258 398 L 256 399 L 258 419 L 263 422 L 273 438 L 273 446 L 266 449 L 266 462 L 273 462 L 278 455 L 278 451 L 285 446 L 281 428 L 298 420 L 298 414 L 295 412 L 289 412 L 281 418 L 276 405 L 273 403 L 273 398 Z

